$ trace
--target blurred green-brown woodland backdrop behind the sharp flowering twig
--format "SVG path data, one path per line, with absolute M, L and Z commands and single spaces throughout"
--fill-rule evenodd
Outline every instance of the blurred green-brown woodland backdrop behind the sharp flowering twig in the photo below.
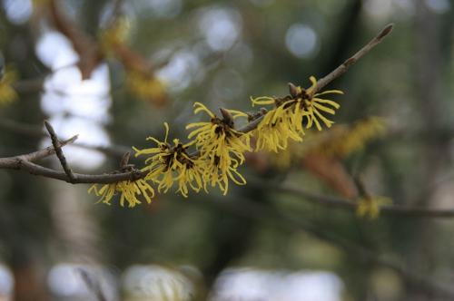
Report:
M 126 209 L 96 204 L 89 185 L 0 170 L 0 300 L 454 299 L 452 215 L 337 206 L 366 194 L 454 209 L 452 1 L 0 5 L 0 156 L 49 145 L 48 120 L 60 138 L 79 134 L 64 151 L 91 174 L 162 140 L 163 121 L 184 140 L 201 120 L 193 102 L 252 111 L 250 96 L 308 87 L 395 24 L 330 84 L 345 92 L 336 125 L 249 154 L 248 184 L 227 196 Z

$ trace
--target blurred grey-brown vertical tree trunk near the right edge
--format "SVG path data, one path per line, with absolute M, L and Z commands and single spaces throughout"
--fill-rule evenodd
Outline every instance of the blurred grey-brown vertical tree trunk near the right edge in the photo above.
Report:
M 415 18 L 416 37 L 416 95 L 418 97 L 422 127 L 438 137 L 446 124 L 445 108 L 442 102 L 442 75 L 443 58 L 446 56 L 441 49 L 443 37 L 441 36 L 441 17 L 430 11 L 424 1 L 417 2 L 417 15 Z M 431 200 L 432 192 L 430 183 L 439 176 L 439 171 L 445 166 L 448 159 L 449 141 L 439 139 L 435 143 L 427 143 L 423 147 L 424 158 L 421 167 L 421 191 L 418 205 L 427 205 Z M 415 204 L 416 205 L 416 204 Z

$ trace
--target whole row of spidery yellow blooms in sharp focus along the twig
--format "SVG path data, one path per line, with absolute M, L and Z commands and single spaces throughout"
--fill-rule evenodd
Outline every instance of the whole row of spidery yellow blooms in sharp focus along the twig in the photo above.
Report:
M 163 141 L 148 137 L 147 140 L 153 141 L 154 147 L 143 150 L 133 148 L 136 157 L 148 156 L 145 160 L 146 166 L 142 169 L 146 172 L 143 180 L 106 185 L 100 190 L 94 186 L 92 189 L 107 203 L 115 192 L 121 191 L 121 204 L 126 199 L 130 207 L 138 203 L 132 194 L 145 194 L 141 186 L 143 183 L 154 184 L 158 191 L 163 193 L 176 186 L 176 192 L 183 197 L 187 197 L 190 190 L 199 192 L 203 189 L 208 192 L 209 188 L 214 187 L 219 188 L 225 195 L 231 181 L 237 185 L 246 184 L 238 170 L 245 161 L 245 152 L 285 150 L 289 146 L 289 140 L 302 141 L 305 129 L 315 126 L 321 131 L 321 124 L 331 127 L 333 121 L 324 114 L 334 114 L 334 110 L 340 106 L 337 102 L 322 99 L 321 95 L 342 92 L 318 92 L 314 77 L 311 77 L 311 83 L 307 90 L 291 84 L 290 95 L 283 98 L 252 99 L 252 105 L 274 104 L 270 111 L 262 109 L 254 115 L 220 109 L 221 114 L 218 116 L 201 102 L 195 102 L 194 113 L 204 112 L 209 121 L 188 124 L 186 130 L 190 133 L 187 143 L 179 139 L 169 142 L 169 125 L 164 122 Z M 240 118 L 252 123 L 238 130 L 235 122 Z M 255 147 L 252 148 L 253 142 Z M 189 151 L 190 148 L 192 152 Z

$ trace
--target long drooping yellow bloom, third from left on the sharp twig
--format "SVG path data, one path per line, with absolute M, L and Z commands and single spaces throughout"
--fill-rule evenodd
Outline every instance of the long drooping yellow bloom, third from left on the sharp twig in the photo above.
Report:
M 234 130 L 234 120 L 247 117 L 247 114 L 234 110 L 222 109 L 223 118 L 217 117 L 202 103 L 194 103 L 194 113 L 206 112 L 211 121 L 188 124 L 186 129 L 193 130 L 188 138 L 195 137 L 195 146 L 199 150 L 198 162 L 203 170 L 203 184 L 212 187 L 218 185 L 223 194 L 229 189 L 229 179 L 238 185 L 246 180 L 238 172 L 244 163 L 244 151 L 251 150 L 251 134 Z

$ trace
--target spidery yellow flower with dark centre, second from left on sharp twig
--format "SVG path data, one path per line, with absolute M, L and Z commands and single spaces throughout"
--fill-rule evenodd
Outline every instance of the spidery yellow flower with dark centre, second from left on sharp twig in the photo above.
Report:
M 187 149 L 194 141 L 182 144 L 178 139 L 173 140 L 173 146 L 167 142 L 169 135 L 169 125 L 164 122 L 165 139 L 158 141 L 153 137 L 147 140 L 154 141 L 156 148 L 135 150 L 135 156 L 152 155 L 145 160 L 148 164 L 143 170 L 148 170 L 145 180 L 152 180 L 158 183 L 158 191 L 167 192 L 177 182 L 177 192 L 182 193 L 183 197 L 188 196 L 188 186 L 198 192 L 202 189 L 202 170 L 195 160 L 187 153 Z

